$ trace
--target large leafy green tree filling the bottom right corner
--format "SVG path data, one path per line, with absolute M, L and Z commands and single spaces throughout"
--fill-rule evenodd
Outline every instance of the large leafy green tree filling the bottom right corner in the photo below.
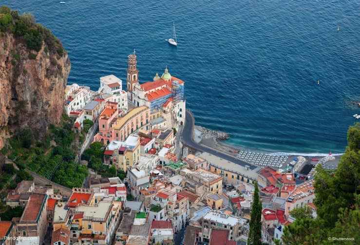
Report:
M 318 217 L 306 210 L 290 212 L 296 220 L 284 228 L 284 244 L 327 244 L 328 237 L 360 239 L 360 124 L 350 127 L 348 146 L 336 171 L 317 167 L 315 200 Z M 348 241 L 345 244 L 354 244 Z

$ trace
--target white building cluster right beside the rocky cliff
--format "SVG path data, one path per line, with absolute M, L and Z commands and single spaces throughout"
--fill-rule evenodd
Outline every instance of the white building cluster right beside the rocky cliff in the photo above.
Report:
M 65 88 L 64 109 L 67 115 L 70 112 L 81 110 L 91 100 L 90 87 L 79 86 L 76 83 Z

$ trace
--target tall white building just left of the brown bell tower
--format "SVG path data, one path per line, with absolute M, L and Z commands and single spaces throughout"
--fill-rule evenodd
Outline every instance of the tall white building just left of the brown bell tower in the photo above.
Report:
M 100 77 L 99 94 L 111 94 L 107 101 L 117 102 L 118 109 L 128 110 L 128 95 L 122 90 L 122 81 L 114 75 Z

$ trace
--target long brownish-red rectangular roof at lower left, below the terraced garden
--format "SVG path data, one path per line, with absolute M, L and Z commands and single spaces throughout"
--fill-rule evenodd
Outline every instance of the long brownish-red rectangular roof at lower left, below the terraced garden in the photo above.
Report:
M 46 201 L 46 194 L 31 194 L 20 221 L 36 221 Z

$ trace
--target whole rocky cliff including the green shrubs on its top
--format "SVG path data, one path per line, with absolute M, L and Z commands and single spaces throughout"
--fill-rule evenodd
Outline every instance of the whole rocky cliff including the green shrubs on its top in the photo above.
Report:
M 30 130 L 42 140 L 60 122 L 70 60 L 32 14 L 0 7 L 0 148 Z

